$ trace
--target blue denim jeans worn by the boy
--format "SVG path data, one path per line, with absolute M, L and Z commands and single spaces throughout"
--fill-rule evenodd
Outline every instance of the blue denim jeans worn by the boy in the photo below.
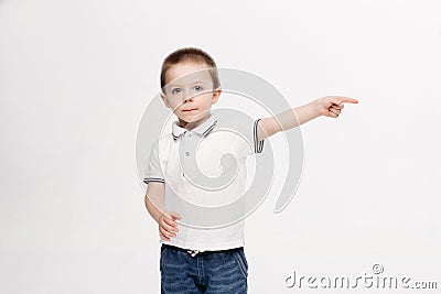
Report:
M 244 247 L 200 252 L 161 246 L 161 294 L 247 293 L 248 263 Z

